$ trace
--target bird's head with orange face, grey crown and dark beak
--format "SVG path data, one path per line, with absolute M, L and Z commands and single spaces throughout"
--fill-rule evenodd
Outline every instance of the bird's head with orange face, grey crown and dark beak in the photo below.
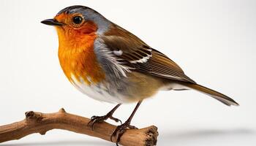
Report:
M 110 26 L 109 20 L 94 9 L 84 6 L 66 7 L 53 19 L 42 20 L 41 23 L 56 27 L 60 43 L 81 42 L 86 36 L 104 34 Z

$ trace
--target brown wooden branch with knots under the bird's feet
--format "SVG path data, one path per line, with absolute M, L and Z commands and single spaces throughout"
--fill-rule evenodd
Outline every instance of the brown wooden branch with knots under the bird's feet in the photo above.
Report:
M 0 143 L 26 137 L 29 134 L 39 133 L 44 135 L 54 128 L 87 134 L 110 141 L 110 135 L 116 129 L 109 123 L 95 123 L 92 131 L 87 123 L 89 118 L 72 115 L 64 109 L 54 113 L 26 112 L 26 118 L 20 122 L 0 126 Z M 120 145 L 150 146 L 157 145 L 157 127 L 149 126 L 140 129 L 127 129 L 119 142 Z M 113 137 L 116 142 L 116 137 Z

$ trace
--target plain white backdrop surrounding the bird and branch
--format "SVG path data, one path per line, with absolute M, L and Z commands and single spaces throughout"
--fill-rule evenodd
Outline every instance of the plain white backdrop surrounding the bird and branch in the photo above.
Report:
M 105 115 L 115 105 L 77 91 L 59 66 L 58 37 L 41 20 L 80 4 L 96 9 L 165 53 L 202 85 L 227 94 L 240 107 L 196 91 L 162 91 L 143 102 L 132 125 L 159 128 L 158 145 L 256 145 L 256 1 L 0 1 L 0 125 L 24 112 Z M 126 120 L 135 104 L 114 116 Z M 114 145 L 69 131 L 32 134 L 1 146 Z

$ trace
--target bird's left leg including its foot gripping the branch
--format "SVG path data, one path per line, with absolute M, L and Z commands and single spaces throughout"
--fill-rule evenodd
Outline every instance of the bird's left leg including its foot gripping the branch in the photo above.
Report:
M 121 120 L 119 120 L 118 118 L 113 118 L 113 113 L 116 111 L 116 109 L 120 106 L 121 104 L 117 104 L 116 107 L 114 107 L 112 110 L 110 110 L 110 112 L 108 112 L 107 115 L 103 115 L 103 116 L 92 116 L 90 122 L 88 123 L 88 126 L 91 126 L 91 129 L 94 129 L 94 123 L 102 123 L 104 120 L 108 120 L 108 118 L 110 118 L 111 120 L 115 120 L 116 122 L 120 122 Z

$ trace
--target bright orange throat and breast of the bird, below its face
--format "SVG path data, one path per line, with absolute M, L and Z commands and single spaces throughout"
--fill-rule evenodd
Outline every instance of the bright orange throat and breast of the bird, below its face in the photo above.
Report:
M 96 28 L 93 24 L 89 25 L 91 26 L 83 28 L 83 31 L 57 28 L 59 61 L 64 74 L 71 82 L 72 76 L 78 81 L 83 79 L 87 84 L 98 83 L 105 79 L 105 73 L 99 66 L 94 53 L 94 39 L 97 35 L 93 30 Z

